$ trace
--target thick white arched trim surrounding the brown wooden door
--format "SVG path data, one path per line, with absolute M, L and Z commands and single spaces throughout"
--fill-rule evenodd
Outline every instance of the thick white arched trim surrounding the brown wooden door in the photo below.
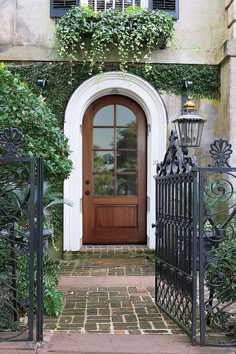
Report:
M 106 95 L 124 95 L 132 98 L 143 109 L 148 124 L 147 137 L 147 242 L 155 245 L 155 175 L 156 161 L 161 161 L 166 150 L 167 114 L 159 93 L 138 76 L 107 72 L 85 81 L 71 96 L 65 112 L 65 135 L 69 139 L 73 171 L 64 184 L 64 196 L 73 207 L 64 206 L 64 250 L 78 251 L 82 245 L 82 134 L 85 111 L 96 99 Z

